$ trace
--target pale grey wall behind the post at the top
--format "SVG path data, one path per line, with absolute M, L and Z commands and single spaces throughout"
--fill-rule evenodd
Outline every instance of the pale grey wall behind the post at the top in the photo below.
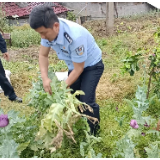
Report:
M 61 5 L 74 9 L 77 14 L 87 4 L 87 7 L 81 12 L 82 16 L 91 16 L 91 19 L 103 19 L 106 17 L 106 2 L 59 2 Z M 154 7 L 147 2 L 116 2 L 119 17 L 148 13 Z M 116 16 L 116 12 L 115 12 Z

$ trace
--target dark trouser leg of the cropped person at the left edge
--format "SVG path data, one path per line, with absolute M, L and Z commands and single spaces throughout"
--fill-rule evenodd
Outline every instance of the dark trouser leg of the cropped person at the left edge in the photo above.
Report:
M 9 100 L 14 100 L 16 98 L 14 89 L 9 83 L 8 79 L 6 78 L 5 70 L 3 68 L 1 59 L 0 59 L 0 86 L 4 91 L 4 95 L 8 96 Z

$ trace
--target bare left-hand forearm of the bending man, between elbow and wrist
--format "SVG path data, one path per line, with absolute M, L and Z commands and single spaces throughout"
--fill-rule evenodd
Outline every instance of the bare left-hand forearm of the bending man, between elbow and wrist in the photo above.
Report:
M 39 68 L 41 71 L 41 77 L 42 79 L 45 79 L 48 77 L 48 57 L 45 56 L 39 56 Z

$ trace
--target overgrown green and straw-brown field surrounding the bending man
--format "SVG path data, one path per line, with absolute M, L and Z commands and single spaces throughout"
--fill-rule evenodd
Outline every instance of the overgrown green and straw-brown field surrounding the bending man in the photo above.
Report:
M 58 144 L 59 142 L 61 143 L 59 147 L 55 145 L 57 148 L 54 148 L 54 145 L 52 145 L 52 148 L 50 147 L 49 142 L 53 140 L 53 135 L 56 135 L 55 132 L 51 135 L 51 132 L 54 131 L 54 127 L 56 126 L 55 124 L 50 124 L 51 121 L 49 121 L 49 118 L 47 119 L 47 116 L 51 116 L 54 112 L 49 111 L 51 105 L 47 106 L 46 104 L 53 104 L 53 102 L 58 104 L 58 102 L 54 97 L 52 97 L 53 102 L 43 102 L 45 98 L 49 99 L 50 97 L 47 97 L 42 91 L 41 94 L 37 94 L 39 99 L 33 92 L 30 93 L 30 90 L 33 91 L 33 81 L 35 83 L 37 82 L 37 86 L 39 83 L 39 87 L 41 87 L 41 81 L 38 79 L 39 37 L 35 35 L 36 44 L 30 42 L 28 46 L 27 38 L 25 42 L 20 44 L 19 41 L 23 39 L 25 32 L 26 34 L 29 32 L 31 35 L 33 33 L 29 31 L 30 29 L 26 24 L 22 27 L 15 27 L 15 30 L 11 32 L 11 35 L 13 34 L 13 46 L 9 47 L 8 45 L 10 62 L 2 59 L 4 68 L 10 70 L 12 73 L 10 77 L 11 83 L 16 94 L 23 98 L 23 103 L 17 104 L 10 102 L 7 97 L 1 93 L 0 108 L 3 109 L 5 114 L 11 110 L 19 111 L 19 116 L 26 118 L 26 121 L 23 122 L 22 120 L 17 120 L 17 116 L 13 114 L 13 117 L 16 119 L 15 122 L 17 123 L 17 126 L 13 126 L 12 133 L 15 131 L 13 139 L 17 146 L 19 144 L 19 147 L 17 147 L 18 153 L 15 151 L 14 154 L 22 158 L 160 158 L 159 127 L 157 124 L 160 115 L 159 14 L 154 13 L 146 16 L 116 19 L 114 34 L 110 37 L 105 36 L 104 20 L 88 21 L 85 22 L 83 26 L 93 34 L 102 49 L 103 62 L 105 64 L 105 71 L 100 79 L 96 92 L 101 116 L 99 139 L 98 137 L 91 136 L 87 139 L 81 126 L 83 123 L 75 122 L 75 124 L 80 123 L 80 125 L 78 126 L 77 124 L 78 128 L 72 126 L 74 134 L 72 135 L 71 131 L 65 128 L 66 126 L 63 126 L 64 130 L 70 131 L 70 137 L 66 136 L 67 134 L 62 136 L 62 133 L 56 130 L 57 135 L 61 135 L 61 138 L 56 139 L 56 142 Z M 16 39 L 16 34 L 19 40 L 18 38 Z M 26 47 L 23 48 L 23 44 L 26 44 Z M 125 67 L 123 60 L 127 61 L 125 61 Z M 53 50 L 50 51 L 49 62 L 51 71 L 67 71 L 65 63 L 57 59 Z M 150 66 L 151 62 L 153 63 Z M 139 67 L 139 70 L 136 66 Z M 153 67 L 154 70 L 152 70 Z M 151 71 L 154 71 L 155 74 L 153 75 Z M 132 76 L 130 75 L 131 72 L 134 72 Z M 150 77 L 152 77 L 152 79 Z M 57 84 L 57 86 L 60 85 L 58 82 L 55 82 L 55 84 Z M 34 91 L 35 90 L 34 88 Z M 149 95 L 146 98 L 147 93 L 149 93 Z M 30 99 L 27 98 L 29 94 L 32 95 Z M 65 96 L 67 98 L 67 95 Z M 39 101 L 34 101 L 32 98 L 34 100 L 37 98 Z M 29 100 L 32 100 L 30 105 L 28 105 Z M 76 107 L 75 102 L 74 105 Z M 60 111 L 55 112 L 58 118 L 64 116 L 59 115 L 59 113 L 61 113 Z M 78 115 L 78 113 L 76 114 Z M 12 114 L 10 113 L 10 115 Z M 72 118 L 69 113 L 67 115 Z M 55 114 L 54 116 L 56 117 Z M 137 122 L 138 128 L 132 124 L 130 125 L 133 119 Z M 19 122 L 23 125 L 19 125 Z M 50 132 L 49 129 L 46 131 L 47 127 L 44 127 L 46 130 L 43 128 L 42 122 L 44 126 L 48 126 L 48 128 L 49 126 L 51 127 Z M 62 124 L 63 120 L 59 119 L 58 122 Z M 70 124 L 69 119 L 68 123 Z M 2 130 L 3 128 L 0 129 L 0 131 Z M 38 131 L 40 131 L 39 135 L 41 135 L 39 137 L 43 138 L 35 142 Z M 2 131 L 2 133 L 4 132 L 5 131 Z M 45 136 L 43 134 L 45 134 Z M 0 139 L 2 137 L 3 136 L 0 136 Z M 2 149 L 3 144 L 0 142 L 0 150 Z M 13 157 L 14 154 L 12 154 L 11 157 Z M 0 151 L 0 157 L 2 157 L 1 155 L 3 154 Z

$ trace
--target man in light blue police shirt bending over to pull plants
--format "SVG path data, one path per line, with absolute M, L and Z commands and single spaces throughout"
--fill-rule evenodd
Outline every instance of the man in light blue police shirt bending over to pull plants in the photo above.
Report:
M 58 18 L 52 7 L 36 6 L 30 13 L 29 23 L 32 29 L 41 35 L 39 52 L 39 66 L 44 90 L 52 94 L 51 80 L 48 78 L 48 55 L 50 48 L 56 51 L 60 60 L 68 66 L 68 78 L 65 81 L 68 87 L 84 91 L 80 101 L 93 108 L 84 113 L 96 117 L 100 121 L 99 105 L 95 101 L 96 87 L 104 70 L 102 51 L 96 44 L 90 32 L 81 25 Z M 91 133 L 96 134 L 99 124 L 89 122 Z

